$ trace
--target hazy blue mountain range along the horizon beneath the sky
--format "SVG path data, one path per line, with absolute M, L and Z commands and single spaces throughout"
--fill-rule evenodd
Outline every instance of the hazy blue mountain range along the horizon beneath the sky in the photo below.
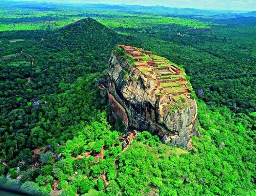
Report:
M 81 8 L 84 10 L 97 11 L 123 11 L 138 14 L 162 14 L 165 16 L 187 17 L 213 17 L 216 19 L 227 19 L 236 17 L 256 17 L 256 11 L 247 13 L 226 12 L 223 10 L 203 10 L 195 8 L 170 8 L 164 6 L 140 6 L 140 5 L 108 5 L 108 4 L 84 4 L 84 3 L 49 3 L 37 1 L 9 1 L 1 0 L 1 6 L 4 8 L 31 8 L 43 10 L 56 10 L 59 8 Z

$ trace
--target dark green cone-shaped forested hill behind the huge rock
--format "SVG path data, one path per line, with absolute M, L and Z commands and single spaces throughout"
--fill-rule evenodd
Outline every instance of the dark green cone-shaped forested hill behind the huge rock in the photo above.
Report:
M 56 55 L 54 59 L 63 57 L 58 55 L 59 52 L 66 57 L 72 55 L 68 59 L 75 60 L 75 66 L 83 65 L 84 71 L 96 72 L 102 71 L 102 66 L 108 67 L 109 54 L 121 40 L 116 32 L 92 18 L 86 18 L 62 27 L 40 45 L 52 50 Z M 84 73 L 80 70 L 77 74 L 82 76 Z

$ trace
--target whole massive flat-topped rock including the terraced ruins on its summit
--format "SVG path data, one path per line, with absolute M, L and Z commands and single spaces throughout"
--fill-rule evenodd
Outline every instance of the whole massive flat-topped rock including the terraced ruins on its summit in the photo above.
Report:
M 141 48 L 118 45 L 107 71 L 108 97 L 113 116 L 126 129 L 157 133 L 163 142 L 192 149 L 197 104 L 185 73 L 163 57 Z

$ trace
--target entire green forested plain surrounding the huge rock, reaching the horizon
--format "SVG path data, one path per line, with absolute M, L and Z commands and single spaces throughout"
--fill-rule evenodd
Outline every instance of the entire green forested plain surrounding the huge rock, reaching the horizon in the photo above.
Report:
M 255 17 L 133 9 L 1 2 L 0 186 L 30 195 L 256 195 Z M 169 59 L 203 90 L 193 150 L 145 130 L 122 152 L 124 125 L 97 86 L 117 44 Z

